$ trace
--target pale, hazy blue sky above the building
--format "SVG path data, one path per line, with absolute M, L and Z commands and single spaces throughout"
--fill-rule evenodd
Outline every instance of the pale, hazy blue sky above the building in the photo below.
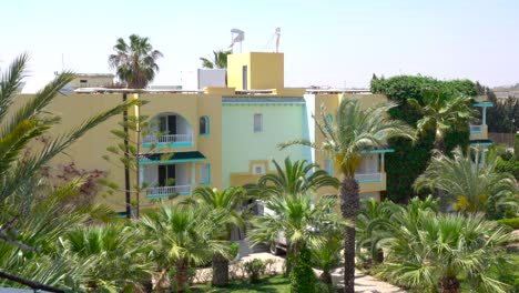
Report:
M 31 54 L 37 87 L 61 70 L 108 72 L 115 40 L 138 33 L 164 53 L 154 84 L 245 31 L 243 51 L 273 51 L 281 27 L 285 85 L 368 87 L 372 74 L 519 82 L 519 1 L 2 1 L 0 67 Z M 269 43 L 269 46 L 268 46 Z

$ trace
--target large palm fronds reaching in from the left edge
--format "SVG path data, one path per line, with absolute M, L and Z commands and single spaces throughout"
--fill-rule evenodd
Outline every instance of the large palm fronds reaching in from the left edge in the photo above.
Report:
M 99 113 L 65 133 L 53 133 L 49 143 L 31 149 L 38 137 L 52 133 L 52 127 L 60 121 L 48 108 L 74 75 L 68 71 L 58 74 L 26 99 L 18 93 L 28 60 L 27 54 L 16 58 L 0 79 L 0 267 L 54 284 L 83 272 L 81 266 L 73 267 L 77 259 L 58 253 L 58 238 L 85 221 L 85 212 L 100 209 L 63 204 L 62 200 L 78 193 L 82 181 L 53 189 L 41 179 L 40 170 L 89 130 L 122 113 L 133 102 Z

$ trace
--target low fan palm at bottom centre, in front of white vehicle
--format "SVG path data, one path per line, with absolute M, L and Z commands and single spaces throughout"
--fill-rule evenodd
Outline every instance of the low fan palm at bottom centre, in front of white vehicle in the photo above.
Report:
M 271 212 L 251 220 L 253 228 L 247 240 L 254 246 L 264 242 L 273 243 L 279 235 L 284 235 L 287 242 L 287 262 L 297 266 L 302 251 L 307 253 L 308 249 L 324 244 L 326 239 L 322 231 L 330 228 L 344 229 L 345 222 L 329 212 L 335 204 L 334 198 L 326 196 L 313 206 L 312 196 L 301 193 L 269 198 L 265 201 L 265 209 Z M 291 275 L 293 273 L 294 270 Z

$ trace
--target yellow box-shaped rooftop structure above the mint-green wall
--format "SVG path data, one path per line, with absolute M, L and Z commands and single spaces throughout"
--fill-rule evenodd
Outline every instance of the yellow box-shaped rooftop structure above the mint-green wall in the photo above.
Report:
M 227 57 L 227 85 L 243 90 L 243 67 L 247 67 L 247 89 L 283 89 L 283 53 L 250 52 Z

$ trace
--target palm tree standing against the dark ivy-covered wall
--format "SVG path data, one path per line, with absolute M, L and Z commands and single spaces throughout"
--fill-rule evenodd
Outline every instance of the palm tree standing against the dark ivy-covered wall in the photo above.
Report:
M 417 122 L 419 132 L 435 131 L 435 149 L 445 153 L 445 134 L 455 128 L 466 128 L 474 120 L 477 111 L 472 109 L 472 98 L 468 95 L 452 95 L 452 93 L 439 90 L 426 90 L 424 92 L 424 104 L 415 99 L 407 102 L 419 109 L 424 115 Z

